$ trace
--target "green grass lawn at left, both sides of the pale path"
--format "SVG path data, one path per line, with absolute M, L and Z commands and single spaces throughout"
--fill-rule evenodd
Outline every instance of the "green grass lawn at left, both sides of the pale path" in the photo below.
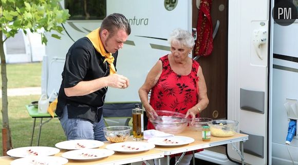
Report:
M 8 64 L 7 78 L 8 88 L 40 87 L 41 86 L 42 63 Z M 0 81 L 2 83 L 2 81 Z M 8 97 L 9 125 L 12 136 L 12 147 L 25 147 L 30 145 L 33 118 L 29 116 L 25 105 L 39 100 L 40 95 L 11 96 Z M 2 107 L 2 100 L 0 99 Z M 43 121 L 46 121 L 45 118 Z M 0 115 L 2 123 L 2 114 Z M 36 139 L 39 132 L 40 119 L 36 119 L 33 146 L 36 146 Z M 2 140 L 2 133 L 0 134 Z M 55 143 L 66 140 L 58 118 L 43 125 L 40 138 L 40 146 L 54 147 Z M 2 142 L 0 143 L 0 154 L 2 155 Z

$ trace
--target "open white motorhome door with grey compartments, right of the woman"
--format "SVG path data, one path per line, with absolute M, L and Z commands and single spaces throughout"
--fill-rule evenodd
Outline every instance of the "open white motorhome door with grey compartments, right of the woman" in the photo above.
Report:
M 264 137 L 264 158 L 245 153 L 246 164 L 267 163 L 267 88 L 268 43 L 260 46 L 263 59 L 255 51 L 255 30 L 265 29 L 268 35 L 268 1 L 229 1 L 228 29 L 228 119 L 239 121 L 239 131 Z M 265 93 L 265 112 L 256 113 L 240 108 L 240 89 Z M 236 145 L 239 147 L 239 145 Z M 231 159 L 240 161 L 232 145 Z

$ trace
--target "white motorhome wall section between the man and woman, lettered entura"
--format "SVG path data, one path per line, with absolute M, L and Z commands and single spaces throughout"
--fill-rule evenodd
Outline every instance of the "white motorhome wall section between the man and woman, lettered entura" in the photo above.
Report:
M 119 51 L 117 72 L 127 76 L 131 86 L 126 90 L 109 88 L 106 101 L 140 100 L 138 90 L 144 83 L 147 73 L 156 64 L 159 57 L 170 53 L 165 50 L 153 49 L 151 44 L 170 47 L 166 40 L 157 38 L 167 39 L 175 28 L 190 29 L 191 23 L 188 22 L 188 16 L 191 8 L 189 8 L 189 3 L 191 1 L 179 1 L 174 10 L 167 11 L 164 8 L 164 2 L 159 0 L 107 1 L 107 14 L 121 11 L 128 20 L 143 18 L 148 21 L 147 25 L 137 25 L 137 20 L 131 24 L 132 33 L 127 40 L 133 41 L 135 45 L 124 45 L 124 48 Z

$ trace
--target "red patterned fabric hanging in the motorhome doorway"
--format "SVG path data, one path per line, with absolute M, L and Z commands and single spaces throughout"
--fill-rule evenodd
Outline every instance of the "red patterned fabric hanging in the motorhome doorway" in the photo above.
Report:
M 197 40 L 194 55 L 208 56 L 213 50 L 213 27 L 211 19 L 212 0 L 201 0 L 197 22 Z

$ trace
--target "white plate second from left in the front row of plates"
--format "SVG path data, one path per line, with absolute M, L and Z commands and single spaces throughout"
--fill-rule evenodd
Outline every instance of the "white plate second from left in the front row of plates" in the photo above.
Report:
M 67 151 L 62 157 L 72 160 L 95 160 L 113 155 L 115 152 L 106 149 L 81 149 Z

